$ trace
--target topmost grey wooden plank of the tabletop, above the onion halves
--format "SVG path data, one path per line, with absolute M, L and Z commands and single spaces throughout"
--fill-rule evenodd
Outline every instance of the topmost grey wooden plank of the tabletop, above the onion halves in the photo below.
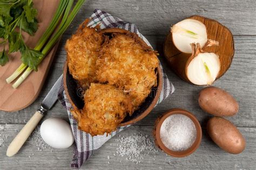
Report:
M 166 35 L 171 24 L 191 15 L 215 19 L 227 26 L 233 35 L 256 35 L 256 3 L 254 0 L 98 0 L 86 1 L 79 15 L 66 33 L 89 17 L 94 9 L 102 9 L 112 15 L 136 23 L 143 35 Z M 153 23 L 153 24 L 150 24 Z

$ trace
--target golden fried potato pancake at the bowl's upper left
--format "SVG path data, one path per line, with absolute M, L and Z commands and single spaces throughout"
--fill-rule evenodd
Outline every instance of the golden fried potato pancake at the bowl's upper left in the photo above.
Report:
M 86 19 L 65 45 L 69 71 L 80 82 L 95 81 L 96 60 L 104 40 L 97 28 L 86 26 L 88 22 Z

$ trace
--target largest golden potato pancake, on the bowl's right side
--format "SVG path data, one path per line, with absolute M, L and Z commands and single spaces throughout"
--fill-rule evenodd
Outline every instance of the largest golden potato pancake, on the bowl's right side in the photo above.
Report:
M 100 83 L 124 89 L 136 110 L 157 85 L 158 65 L 156 51 L 135 33 L 112 33 L 100 48 L 96 77 Z

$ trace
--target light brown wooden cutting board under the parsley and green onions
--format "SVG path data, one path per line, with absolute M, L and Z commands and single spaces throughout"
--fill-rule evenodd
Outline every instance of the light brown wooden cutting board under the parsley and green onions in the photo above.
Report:
M 50 25 L 58 8 L 59 0 L 33 0 L 33 3 L 38 10 L 37 18 L 39 27 L 35 36 L 29 36 L 27 33 L 23 33 L 25 43 L 32 48 L 35 47 L 38 40 L 48 28 L 48 25 Z M 5 81 L 21 65 L 21 54 L 19 52 L 11 53 L 9 62 L 5 66 L 0 66 L 0 110 L 6 112 L 22 110 L 36 100 L 50 69 L 57 47 L 58 43 L 38 66 L 38 71 L 33 71 L 17 89 L 11 86 L 14 81 L 11 84 L 7 84 Z

